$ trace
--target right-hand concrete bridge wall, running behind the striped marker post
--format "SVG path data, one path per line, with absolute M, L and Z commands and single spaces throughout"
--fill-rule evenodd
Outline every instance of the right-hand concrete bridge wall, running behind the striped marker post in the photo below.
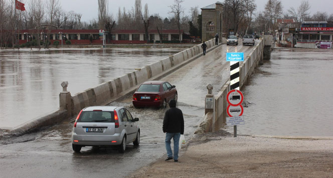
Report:
M 244 61 L 240 63 L 240 88 L 246 83 L 247 79 L 253 73 L 254 69 L 263 60 L 264 40 L 260 41 L 248 56 L 244 56 Z M 227 94 L 230 91 L 230 80 L 228 80 L 221 91 L 214 96 L 215 99 L 215 113 L 207 113 L 204 121 L 200 124 L 196 133 L 212 132 L 220 129 L 221 125 L 225 123 L 227 117 L 226 100 Z M 211 117 L 210 117 L 211 116 Z

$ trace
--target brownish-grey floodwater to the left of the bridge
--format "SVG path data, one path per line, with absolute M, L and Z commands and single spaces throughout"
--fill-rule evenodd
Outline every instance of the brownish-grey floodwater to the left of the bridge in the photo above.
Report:
M 0 51 L 0 128 L 13 128 L 59 108 L 61 82 L 72 95 L 180 48 L 111 48 Z

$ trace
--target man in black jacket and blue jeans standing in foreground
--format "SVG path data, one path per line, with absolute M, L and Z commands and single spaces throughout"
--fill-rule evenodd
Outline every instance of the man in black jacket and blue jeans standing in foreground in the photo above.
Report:
M 178 162 L 179 139 L 184 134 L 184 117 L 182 110 L 176 108 L 176 101 L 169 102 L 170 109 L 165 112 L 163 120 L 163 132 L 165 135 L 165 148 L 167 149 L 168 157 L 165 161 L 174 159 Z M 171 139 L 174 139 L 174 157 L 171 150 Z

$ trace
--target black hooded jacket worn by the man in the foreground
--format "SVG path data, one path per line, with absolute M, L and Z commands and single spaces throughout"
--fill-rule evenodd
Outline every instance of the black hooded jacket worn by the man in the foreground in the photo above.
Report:
M 163 132 L 184 134 L 184 117 L 182 110 L 170 108 L 164 114 Z

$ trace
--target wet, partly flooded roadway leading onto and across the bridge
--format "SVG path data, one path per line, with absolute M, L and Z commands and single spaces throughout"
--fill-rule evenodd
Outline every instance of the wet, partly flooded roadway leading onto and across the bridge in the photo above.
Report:
M 220 45 L 197 60 L 162 78 L 176 85 L 177 107 L 184 113 L 185 137 L 190 138 L 204 118 L 206 86 L 219 91 L 229 78 L 226 52 L 244 52 L 252 46 Z M 0 172 L 3 177 L 125 177 L 165 155 L 162 121 L 168 109 L 134 109 L 131 98 L 110 105 L 125 106 L 138 117 L 141 140 L 138 147 L 127 145 L 125 153 L 115 148 L 71 148 L 73 119 L 38 133 L 0 141 Z M 182 150 L 181 150 L 182 151 Z M 181 159 L 181 157 L 180 157 Z

